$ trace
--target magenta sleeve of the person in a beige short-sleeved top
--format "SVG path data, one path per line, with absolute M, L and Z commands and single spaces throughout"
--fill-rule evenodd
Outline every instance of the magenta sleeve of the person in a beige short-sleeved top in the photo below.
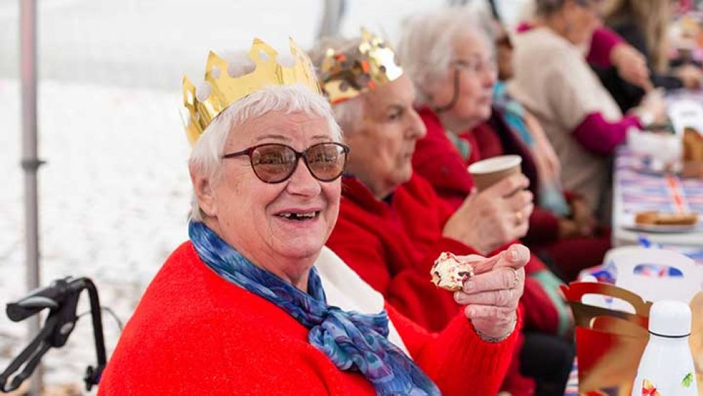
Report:
M 591 113 L 574 129 L 574 138 L 583 148 L 597 154 L 610 154 L 627 138 L 627 129 L 640 128 L 637 117 L 626 115 L 618 122 L 608 122 L 601 113 Z

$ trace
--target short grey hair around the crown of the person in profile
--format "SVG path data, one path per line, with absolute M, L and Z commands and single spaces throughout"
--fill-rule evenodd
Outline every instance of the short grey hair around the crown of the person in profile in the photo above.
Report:
M 328 49 L 334 49 L 337 52 L 353 52 L 354 49 L 359 49 L 361 37 L 347 39 L 341 36 L 323 37 L 317 41 L 315 46 L 308 51 L 310 60 L 315 66 L 318 77 L 321 76 L 322 63 L 325 60 L 325 54 Z M 358 52 L 358 51 L 357 51 Z M 363 119 L 365 99 L 363 95 L 356 98 L 347 99 L 346 101 L 335 103 L 332 106 L 332 113 L 335 115 L 337 124 L 340 125 L 344 135 L 349 135 L 354 132 L 354 129 L 359 125 L 359 121 Z

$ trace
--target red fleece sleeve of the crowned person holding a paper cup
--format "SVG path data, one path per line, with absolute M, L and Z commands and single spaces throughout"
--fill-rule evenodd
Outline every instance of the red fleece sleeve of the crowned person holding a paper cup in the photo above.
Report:
M 328 246 L 390 305 L 431 330 L 446 326 L 459 310 L 451 293 L 439 293 L 430 282 L 430 268 L 439 253 L 451 251 L 458 255 L 476 254 L 463 243 L 449 238 L 439 238 L 418 264 L 408 265 L 392 272 L 387 264 L 387 253 L 378 238 L 347 219 L 340 218 Z M 413 263 L 411 263 L 413 264 Z

